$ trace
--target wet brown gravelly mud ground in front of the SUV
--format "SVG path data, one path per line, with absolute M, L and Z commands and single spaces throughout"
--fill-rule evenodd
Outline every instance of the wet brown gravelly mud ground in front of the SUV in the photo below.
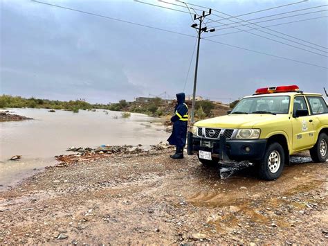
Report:
M 327 168 L 274 182 L 159 150 L 47 168 L 0 193 L 0 244 L 328 244 Z

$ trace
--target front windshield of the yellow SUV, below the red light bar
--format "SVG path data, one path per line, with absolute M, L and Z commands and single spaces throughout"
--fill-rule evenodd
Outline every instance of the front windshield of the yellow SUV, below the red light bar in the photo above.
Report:
M 244 98 L 231 114 L 288 114 L 289 96 L 256 96 Z

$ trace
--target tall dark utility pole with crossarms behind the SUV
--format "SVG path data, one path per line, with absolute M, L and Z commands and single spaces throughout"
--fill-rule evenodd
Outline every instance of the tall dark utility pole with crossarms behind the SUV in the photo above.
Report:
M 196 87 L 197 87 L 197 73 L 198 73 L 198 61 L 199 61 L 199 45 L 201 44 L 201 33 L 208 33 L 208 32 L 215 32 L 215 28 L 212 28 L 210 30 L 207 30 L 208 28 L 201 27 L 203 24 L 203 21 L 205 17 L 210 15 L 212 12 L 212 9 L 208 11 L 208 14 L 205 14 L 205 11 L 203 11 L 203 15 L 197 17 L 197 15 L 194 15 L 194 21 L 199 20 L 199 24 L 192 24 L 192 28 L 195 28 L 198 33 L 198 44 L 197 44 L 197 55 L 196 55 L 196 67 L 194 69 L 194 90 L 192 91 L 192 112 L 191 112 L 191 120 L 190 123 L 194 123 L 194 105 L 196 103 Z

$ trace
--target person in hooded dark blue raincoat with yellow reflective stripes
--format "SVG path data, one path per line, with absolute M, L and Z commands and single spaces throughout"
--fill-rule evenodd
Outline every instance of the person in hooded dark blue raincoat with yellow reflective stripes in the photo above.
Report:
M 174 116 L 171 121 L 173 123 L 172 134 L 167 141 L 172 146 L 176 146 L 176 152 L 170 157 L 172 159 L 183 159 L 183 148 L 187 139 L 188 128 L 188 106 L 185 104 L 185 94 L 176 94 L 176 106 L 174 108 Z

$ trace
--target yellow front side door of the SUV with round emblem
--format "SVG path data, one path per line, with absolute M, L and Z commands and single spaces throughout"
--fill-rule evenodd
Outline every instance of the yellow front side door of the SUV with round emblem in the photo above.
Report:
M 293 150 L 296 151 L 309 148 L 315 144 L 313 117 L 310 115 L 296 117 L 295 112 L 298 109 L 307 109 L 309 111 L 304 96 L 295 96 L 293 102 Z

